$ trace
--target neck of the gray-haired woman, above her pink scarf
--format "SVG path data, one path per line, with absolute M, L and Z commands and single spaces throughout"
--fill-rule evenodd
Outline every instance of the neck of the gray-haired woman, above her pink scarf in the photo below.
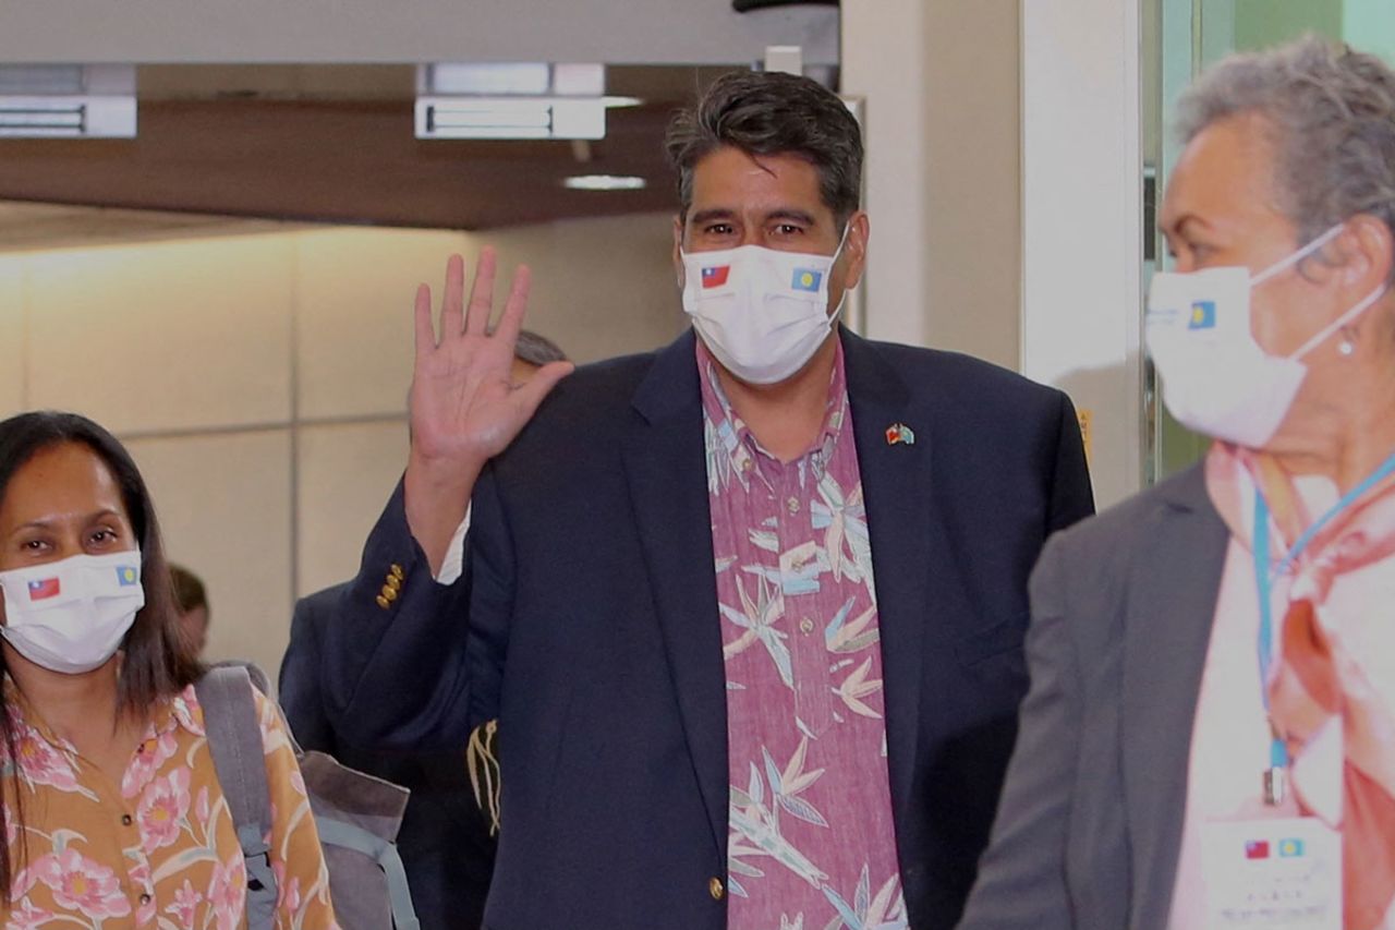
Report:
M 1355 362 L 1355 359 L 1353 359 Z M 1267 450 L 1293 475 L 1325 475 L 1346 493 L 1395 452 L 1395 370 L 1352 364 L 1329 402 L 1295 405 Z

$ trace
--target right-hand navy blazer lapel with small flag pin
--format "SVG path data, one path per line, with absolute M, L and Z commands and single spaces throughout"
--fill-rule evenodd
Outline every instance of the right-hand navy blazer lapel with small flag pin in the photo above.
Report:
M 896 822 L 910 822 L 921 711 L 926 570 L 930 556 L 930 423 L 907 412 L 911 392 L 872 344 L 841 331 L 858 468 L 872 539 L 887 768 Z M 891 441 L 887 429 L 910 429 Z M 912 441 L 914 436 L 914 441 Z

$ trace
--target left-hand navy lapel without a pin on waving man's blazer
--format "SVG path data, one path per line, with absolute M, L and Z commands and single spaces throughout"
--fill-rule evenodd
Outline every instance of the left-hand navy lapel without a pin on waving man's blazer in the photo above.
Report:
M 658 353 L 633 398 L 625 476 L 713 842 L 727 850 L 727 683 L 692 331 Z

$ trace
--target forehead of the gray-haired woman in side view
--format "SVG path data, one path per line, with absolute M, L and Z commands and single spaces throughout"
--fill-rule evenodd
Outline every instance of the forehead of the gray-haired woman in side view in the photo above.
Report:
M 1189 216 L 1240 226 L 1281 218 L 1274 147 L 1264 117 L 1249 113 L 1216 120 L 1187 144 L 1158 219 L 1163 229 L 1172 229 Z

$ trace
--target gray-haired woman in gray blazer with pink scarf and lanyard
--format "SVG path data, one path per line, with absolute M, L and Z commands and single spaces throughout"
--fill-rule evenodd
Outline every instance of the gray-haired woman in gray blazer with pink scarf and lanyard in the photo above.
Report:
M 1395 927 L 1395 71 L 1180 102 L 1148 348 L 1193 469 L 1056 536 L 963 930 Z

